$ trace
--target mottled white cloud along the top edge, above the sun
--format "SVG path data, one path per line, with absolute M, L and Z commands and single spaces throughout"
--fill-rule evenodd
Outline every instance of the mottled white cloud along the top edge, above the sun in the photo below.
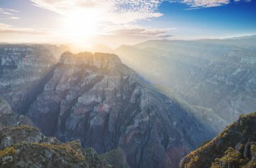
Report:
M 124 24 L 140 19 L 160 17 L 158 7 L 161 0 L 30 0 L 34 5 L 62 15 L 81 9 L 98 11 L 101 22 Z

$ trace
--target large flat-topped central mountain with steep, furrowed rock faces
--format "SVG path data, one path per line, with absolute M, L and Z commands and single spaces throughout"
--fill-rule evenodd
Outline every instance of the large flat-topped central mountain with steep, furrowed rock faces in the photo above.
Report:
M 178 167 L 213 135 L 115 54 L 63 53 L 28 116 L 44 134 L 98 153 L 119 146 L 130 167 Z

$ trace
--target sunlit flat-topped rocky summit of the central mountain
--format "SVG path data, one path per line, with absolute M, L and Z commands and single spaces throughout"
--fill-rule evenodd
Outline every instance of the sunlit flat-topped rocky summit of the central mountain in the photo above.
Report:
M 115 54 L 106 54 L 96 52 L 79 52 L 72 54 L 64 52 L 59 60 L 60 64 L 64 65 L 89 65 L 98 69 L 115 69 L 117 65 L 121 65 L 121 59 Z

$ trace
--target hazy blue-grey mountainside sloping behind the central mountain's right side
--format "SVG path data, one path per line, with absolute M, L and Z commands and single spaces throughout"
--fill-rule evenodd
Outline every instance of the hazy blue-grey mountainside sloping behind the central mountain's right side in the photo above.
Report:
M 256 109 L 255 44 L 256 36 L 150 40 L 121 46 L 115 53 L 154 85 L 168 88 L 192 106 L 209 109 L 214 120 L 222 119 L 216 127 L 220 131 L 243 112 Z

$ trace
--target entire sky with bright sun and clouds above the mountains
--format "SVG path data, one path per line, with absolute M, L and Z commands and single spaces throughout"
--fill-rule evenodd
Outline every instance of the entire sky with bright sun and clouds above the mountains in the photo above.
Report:
M 0 0 L 0 42 L 105 44 L 256 34 L 256 0 Z

